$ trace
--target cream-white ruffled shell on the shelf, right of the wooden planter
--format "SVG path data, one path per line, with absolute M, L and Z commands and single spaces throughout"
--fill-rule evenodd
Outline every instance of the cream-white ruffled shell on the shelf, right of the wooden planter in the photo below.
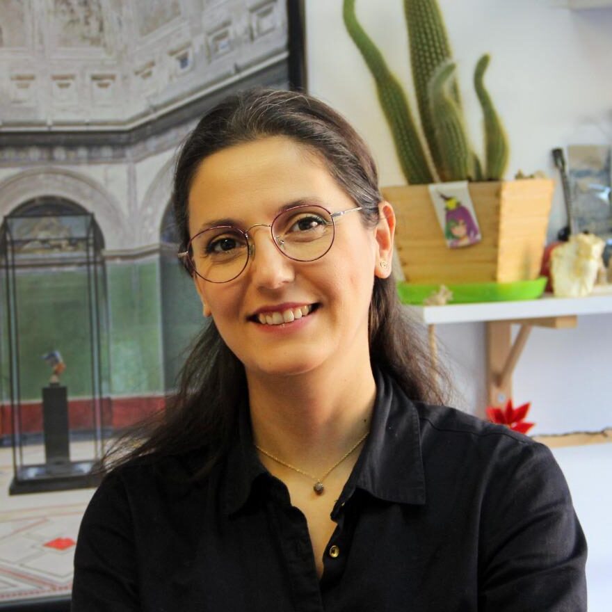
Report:
M 558 298 L 581 298 L 593 291 L 605 245 L 594 234 L 577 234 L 553 250 L 552 287 Z

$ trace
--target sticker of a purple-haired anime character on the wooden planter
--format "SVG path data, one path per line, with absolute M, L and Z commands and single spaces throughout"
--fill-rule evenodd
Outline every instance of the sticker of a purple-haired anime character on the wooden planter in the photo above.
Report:
M 434 183 L 429 195 L 449 248 L 461 248 L 482 240 L 481 230 L 469 197 L 467 181 Z

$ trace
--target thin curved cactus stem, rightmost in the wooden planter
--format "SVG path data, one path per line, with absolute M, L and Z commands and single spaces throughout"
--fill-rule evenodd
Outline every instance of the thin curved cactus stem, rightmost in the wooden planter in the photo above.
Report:
M 485 131 L 485 179 L 499 181 L 504 177 L 508 166 L 508 137 L 495 111 L 493 102 L 484 86 L 485 71 L 490 56 L 484 54 L 476 64 L 474 88 L 483 108 Z

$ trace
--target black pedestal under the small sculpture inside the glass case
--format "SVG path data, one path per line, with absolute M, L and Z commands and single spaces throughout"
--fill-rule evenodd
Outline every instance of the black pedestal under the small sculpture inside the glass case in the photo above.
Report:
M 65 471 L 70 463 L 68 444 L 68 394 L 66 387 L 49 385 L 42 389 L 42 431 L 45 434 L 45 462 L 50 472 Z

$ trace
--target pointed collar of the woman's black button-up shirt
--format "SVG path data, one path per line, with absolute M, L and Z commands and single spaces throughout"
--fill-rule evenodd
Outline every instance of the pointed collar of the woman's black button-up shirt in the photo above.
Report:
M 374 369 L 376 402 L 370 434 L 339 501 L 356 488 L 398 504 L 425 504 L 419 414 L 397 383 Z M 253 446 L 248 405 L 239 409 L 238 432 L 227 454 L 225 507 L 237 512 L 248 500 L 252 485 L 268 474 Z

